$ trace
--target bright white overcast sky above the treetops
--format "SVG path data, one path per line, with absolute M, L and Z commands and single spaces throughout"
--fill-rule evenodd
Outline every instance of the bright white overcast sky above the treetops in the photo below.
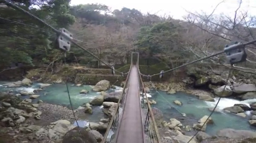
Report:
M 143 13 L 157 13 L 158 15 L 168 14 L 175 19 L 182 19 L 188 11 L 205 11 L 211 13 L 215 6 L 222 0 L 71 0 L 71 5 L 87 4 L 87 3 L 101 3 L 109 6 L 111 10 L 122 9 L 127 7 L 129 9 L 138 9 Z M 239 6 L 240 0 L 225 0 L 218 6 L 215 14 L 225 13 L 234 14 L 234 11 Z M 256 0 L 243 0 L 241 5 L 242 11 L 247 11 L 256 15 Z

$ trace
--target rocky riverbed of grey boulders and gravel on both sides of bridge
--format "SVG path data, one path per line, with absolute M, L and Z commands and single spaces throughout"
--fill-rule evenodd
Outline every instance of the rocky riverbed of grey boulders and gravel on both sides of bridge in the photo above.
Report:
M 210 81 L 210 80 L 209 80 Z M 7 87 L 19 87 L 19 86 L 30 86 L 32 84 L 31 81 L 28 79 L 24 79 L 22 81 L 17 81 L 15 83 L 8 83 L 5 86 Z M 216 100 L 216 93 L 214 90 L 207 91 L 202 89 L 193 89 L 187 85 L 188 83 L 183 81 L 180 83 L 154 83 L 153 85 L 149 85 L 149 83 L 145 83 L 147 87 L 155 87 L 157 90 L 166 91 L 169 96 L 172 94 L 177 94 L 178 91 L 188 92 L 191 94 L 195 94 L 199 100 L 205 100 L 207 102 L 215 103 Z M 191 83 L 190 83 L 191 84 Z M 239 83 L 239 86 L 251 86 L 251 83 Z M 105 114 L 105 118 L 100 119 L 99 122 L 93 123 L 85 123 L 81 126 L 84 126 L 84 129 L 76 128 L 75 122 L 72 111 L 64 106 L 60 105 L 52 105 L 49 103 L 43 103 L 41 100 L 38 100 L 37 92 L 41 92 L 47 89 L 50 84 L 41 84 L 40 89 L 37 89 L 33 92 L 20 92 L 19 94 L 28 94 L 23 97 L 28 97 L 28 99 L 20 99 L 17 95 L 13 95 L 14 93 L 10 91 L 9 93 L 2 93 L 1 94 L 1 112 L 0 112 L 0 119 L 1 119 L 1 126 L 3 126 L 1 132 L 0 140 L 4 140 L 6 142 L 13 142 L 13 143 L 75 143 L 75 140 L 68 140 L 73 136 L 76 136 L 76 132 L 83 132 L 86 134 L 86 137 L 90 139 L 88 143 L 100 142 L 102 140 L 102 135 L 106 131 L 108 127 L 109 120 L 113 116 L 114 109 L 116 108 L 116 103 L 119 100 L 121 92 L 106 92 L 107 90 L 115 88 L 115 86 L 111 86 L 111 84 L 107 80 L 102 80 L 93 86 L 91 89 L 92 91 L 96 91 L 99 94 L 94 96 L 90 102 L 84 103 L 78 109 L 75 110 L 75 114 L 77 119 L 81 119 L 82 116 L 90 116 L 90 114 L 95 114 L 95 107 L 102 107 L 102 112 Z M 81 84 L 76 85 L 75 87 L 80 87 Z M 121 85 L 122 86 L 122 85 Z M 239 87 L 236 86 L 236 87 Z M 235 87 L 235 88 L 236 88 Z M 221 88 L 221 86 L 217 86 L 216 89 Z M 186 89 L 186 90 L 185 90 Z M 232 96 L 236 89 L 230 88 L 232 91 Z M 244 90 L 244 88 L 239 89 Z M 248 91 L 248 90 L 247 90 Z M 81 94 L 88 94 L 90 90 L 82 89 L 80 91 Z M 146 92 L 150 93 L 150 88 L 146 88 Z M 242 92 L 243 94 L 253 93 L 251 92 Z M 149 94 L 148 94 L 149 95 Z M 239 95 L 241 96 L 241 95 Z M 248 95 L 247 95 L 248 97 Z M 249 97 L 253 97 L 250 95 Z M 254 97 L 253 97 L 254 98 Z M 250 98 L 249 98 L 250 99 Z M 35 103 L 38 101 L 38 103 Z M 157 101 L 158 102 L 158 101 Z M 157 102 L 154 98 L 150 98 L 150 103 L 152 105 L 157 106 Z M 179 100 L 173 101 L 173 104 L 177 104 L 177 106 L 184 106 L 183 102 Z M 243 110 L 241 110 L 241 109 Z M 188 114 L 187 117 L 184 117 L 183 114 L 179 116 L 173 116 L 175 118 L 170 118 L 166 120 L 163 113 L 153 108 L 154 115 L 156 121 L 158 123 L 159 132 L 161 134 L 161 139 L 163 143 L 183 143 L 187 142 L 190 137 L 197 132 L 198 129 L 201 128 L 202 124 L 205 122 L 207 118 L 206 116 L 202 115 L 200 120 L 192 119 Z M 230 108 L 223 110 L 224 112 L 230 111 L 233 114 L 236 113 L 239 116 L 244 116 L 241 114 L 244 111 L 254 110 L 253 104 L 236 104 Z M 237 112 L 238 111 L 238 112 Z M 8 114 L 7 114 L 8 113 Z M 253 112 L 252 112 L 253 114 Z M 250 117 L 248 117 L 250 116 Z M 256 117 L 252 115 L 247 115 L 244 120 L 248 120 L 248 123 L 251 126 L 255 126 Z M 61 122 L 61 123 L 54 123 L 54 122 Z M 93 121 L 93 120 L 90 120 Z M 64 122 L 64 123 L 63 123 Z M 188 123 L 193 123 L 192 125 L 188 125 Z M 212 123 L 215 123 L 215 118 L 212 118 L 209 124 L 203 126 L 201 132 L 196 136 L 195 139 L 192 140 L 193 143 L 215 143 L 217 142 L 227 142 L 233 141 L 234 143 L 240 143 L 238 141 L 244 141 L 246 137 L 249 139 L 246 140 L 248 143 L 254 143 L 250 141 L 254 141 L 255 132 L 253 131 L 244 131 L 244 130 L 233 130 L 233 129 L 221 129 L 217 132 L 216 135 L 208 135 L 204 133 L 207 129 L 207 126 L 212 126 Z M 30 129 L 32 128 L 32 129 Z M 35 129 L 34 129 L 35 128 Z M 209 127 L 208 127 L 209 128 Z M 31 130 L 31 131 L 29 131 Z M 29 131 L 29 132 L 26 132 Z M 231 133 L 230 133 L 231 132 Z M 242 136 L 235 137 L 236 134 L 243 134 Z M 55 134 L 55 135 L 53 135 Z M 63 138 L 65 140 L 63 140 Z M 81 136 L 76 136 L 76 138 L 81 138 Z M 218 139 L 220 138 L 220 139 Z M 236 138 L 236 139 L 234 139 Z M 62 141 L 63 140 L 63 141 Z M 67 142 L 69 141 L 69 142 Z M 237 141 L 237 142 L 235 142 Z M 95 143 L 96 143 L 95 142 Z M 232 143 L 232 142 L 231 142 Z

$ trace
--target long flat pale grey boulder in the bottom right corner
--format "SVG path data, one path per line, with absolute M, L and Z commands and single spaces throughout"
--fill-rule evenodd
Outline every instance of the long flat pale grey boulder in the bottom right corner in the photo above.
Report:
M 217 132 L 220 137 L 230 137 L 234 139 L 243 139 L 247 137 L 256 137 L 256 132 L 247 130 L 222 129 Z

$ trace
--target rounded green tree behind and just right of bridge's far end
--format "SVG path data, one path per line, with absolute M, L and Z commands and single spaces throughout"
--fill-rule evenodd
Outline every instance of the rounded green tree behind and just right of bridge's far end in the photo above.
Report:
M 136 45 L 140 53 L 148 55 L 177 51 L 179 27 L 172 22 L 157 23 L 152 27 L 142 27 Z

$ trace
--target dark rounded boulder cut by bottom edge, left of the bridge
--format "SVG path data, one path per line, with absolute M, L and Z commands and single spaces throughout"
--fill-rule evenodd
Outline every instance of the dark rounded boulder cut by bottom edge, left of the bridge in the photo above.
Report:
M 62 143 L 97 143 L 97 140 L 91 132 L 76 127 L 65 134 Z

